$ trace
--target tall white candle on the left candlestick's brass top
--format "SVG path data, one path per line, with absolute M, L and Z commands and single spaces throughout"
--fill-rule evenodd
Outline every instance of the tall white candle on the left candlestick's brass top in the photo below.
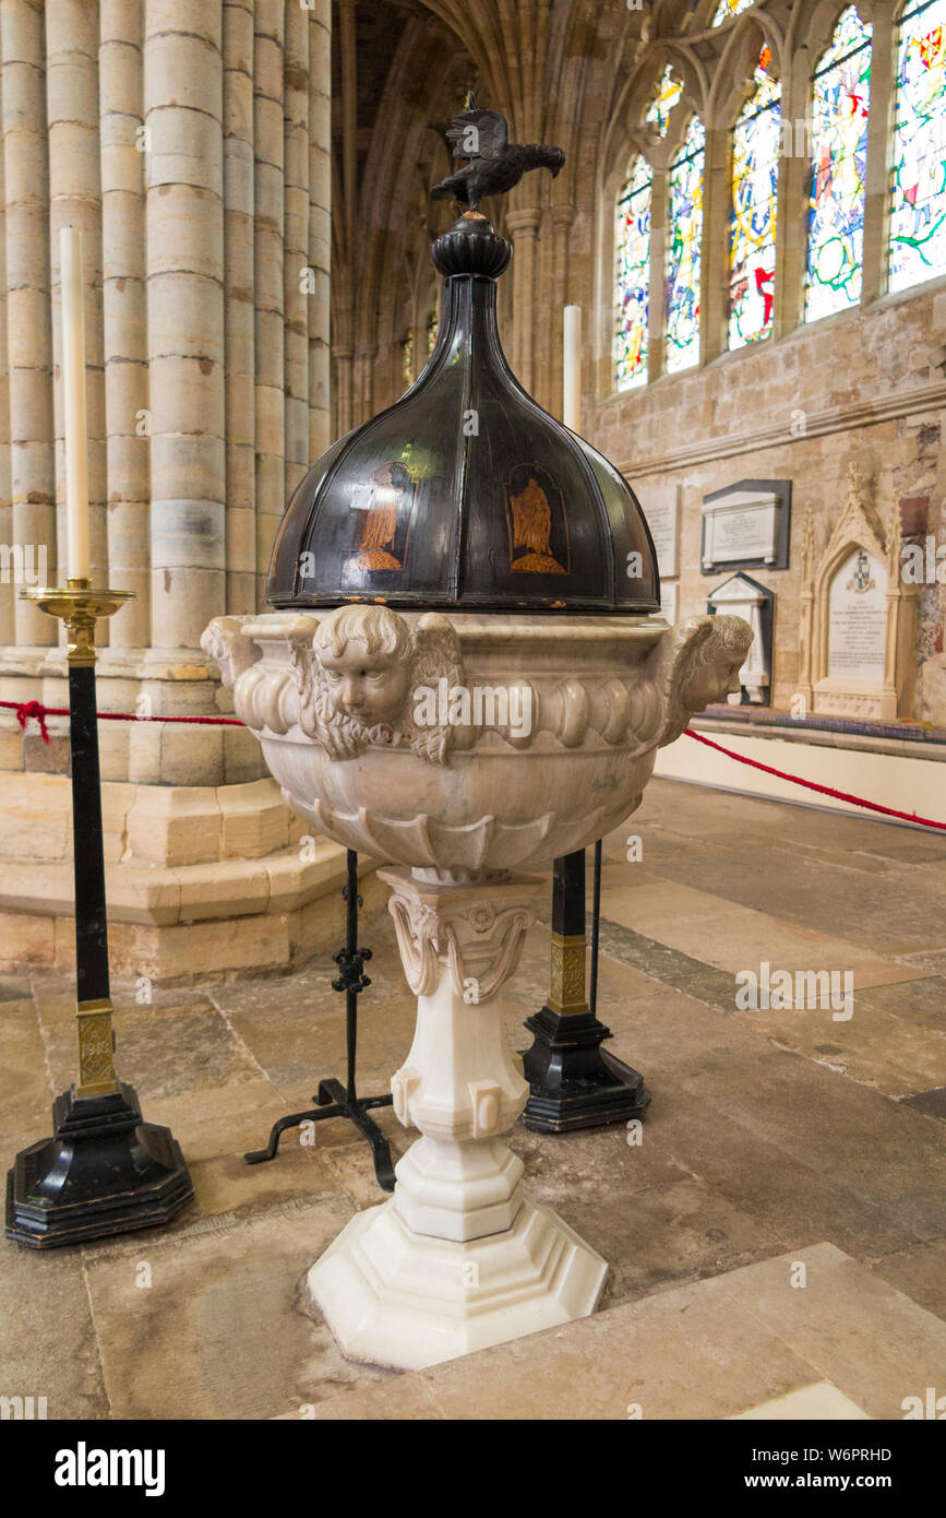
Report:
M 82 232 L 59 232 L 62 266 L 62 401 L 65 410 L 65 521 L 68 575 L 91 574 L 88 540 L 88 430 L 85 422 L 85 302 L 82 299 Z

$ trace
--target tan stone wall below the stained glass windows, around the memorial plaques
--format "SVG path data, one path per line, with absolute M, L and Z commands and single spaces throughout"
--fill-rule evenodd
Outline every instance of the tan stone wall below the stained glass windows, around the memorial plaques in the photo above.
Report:
M 931 369 L 931 334 L 946 328 L 946 284 L 829 317 L 775 343 L 667 376 L 646 393 L 591 405 L 590 440 L 647 487 L 681 492 L 678 616 L 706 610 L 726 578 L 700 574 L 700 502 L 752 478 L 793 481 L 790 566 L 750 569 L 776 592 L 772 704 L 787 709 L 799 674 L 802 533 L 814 513 L 816 559 L 847 499 L 854 465 L 882 521 L 899 502 L 905 530 L 946 542 L 944 390 Z M 920 586 L 917 718 L 946 726 L 946 587 Z

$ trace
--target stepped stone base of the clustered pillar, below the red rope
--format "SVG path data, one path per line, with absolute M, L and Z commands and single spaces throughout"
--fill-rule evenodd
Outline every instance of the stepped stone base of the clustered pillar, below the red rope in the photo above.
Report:
M 71 797 L 3 776 L 0 972 L 74 967 Z M 109 961 L 152 982 L 283 970 L 344 937 L 346 850 L 306 835 L 273 780 L 102 786 Z M 384 905 L 364 859 L 365 911 Z M 326 900 L 327 897 L 327 900 Z

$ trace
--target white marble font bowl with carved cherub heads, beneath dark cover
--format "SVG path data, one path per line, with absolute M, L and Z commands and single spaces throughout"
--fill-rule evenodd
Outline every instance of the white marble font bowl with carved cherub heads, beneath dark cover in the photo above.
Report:
M 535 868 L 640 803 L 658 747 L 738 689 L 737 616 L 220 616 L 203 651 L 287 805 L 426 879 Z

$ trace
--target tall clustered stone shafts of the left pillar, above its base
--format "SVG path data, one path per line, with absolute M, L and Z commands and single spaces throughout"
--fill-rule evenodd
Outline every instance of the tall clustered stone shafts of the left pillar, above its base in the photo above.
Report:
M 150 650 L 149 674 L 214 615 L 256 609 L 287 496 L 327 443 L 329 24 L 329 0 L 0 8 L 0 542 L 65 574 L 73 225 L 94 577 L 135 592 L 112 653 Z M 5 580 L 6 672 L 14 657 L 35 686 L 56 627 Z

